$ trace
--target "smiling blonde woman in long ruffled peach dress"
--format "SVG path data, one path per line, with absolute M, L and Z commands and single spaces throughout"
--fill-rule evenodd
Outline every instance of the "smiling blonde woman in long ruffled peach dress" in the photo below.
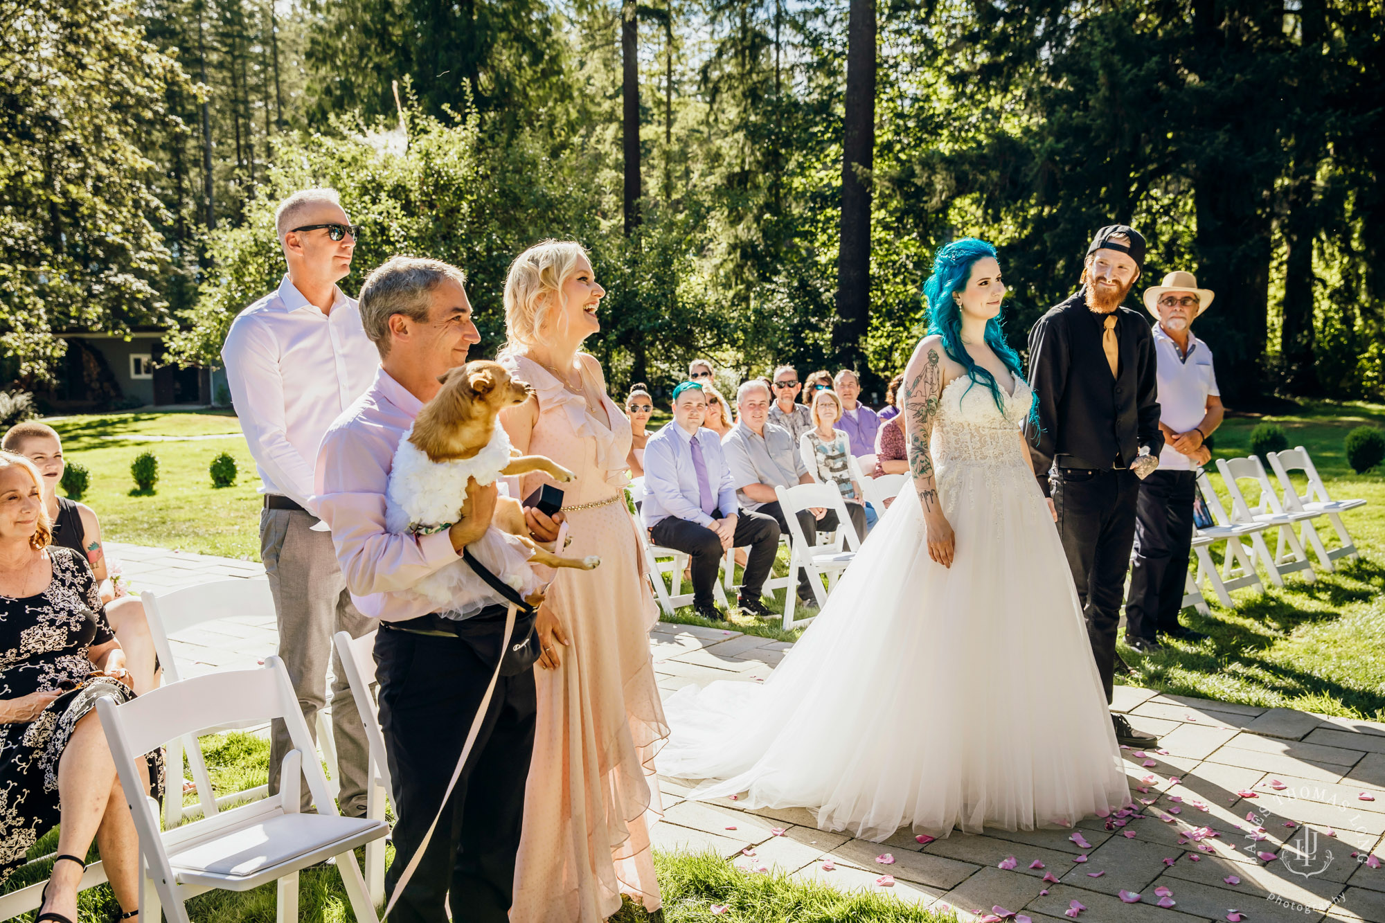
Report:
M 535 398 L 501 423 L 517 449 L 578 475 L 557 485 L 572 539 L 565 554 L 601 556 L 594 571 L 558 572 L 539 608 L 539 715 L 512 923 L 597 923 L 620 909 L 622 894 L 659 908 L 650 825 L 662 814 L 654 754 L 668 725 L 648 642 L 658 608 L 625 500 L 630 423 L 607 395 L 601 364 L 578 351 L 600 330 L 604 294 L 575 243 L 530 247 L 506 281 L 501 363 Z M 546 482 L 524 477 L 522 496 Z M 553 534 L 544 520 L 537 531 Z

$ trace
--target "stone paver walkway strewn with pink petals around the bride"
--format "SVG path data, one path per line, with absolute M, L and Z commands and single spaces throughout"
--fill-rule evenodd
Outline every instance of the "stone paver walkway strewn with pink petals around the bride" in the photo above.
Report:
M 211 556 L 108 550 L 136 589 L 263 574 Z M 668 622 L 650 633 L 665 696 L 688 683 L 763 679 L 788 647 Z M 274 649 L 273 613 L 256 613 L 188 632 L 177 656 L 197 664 L 188 672 L 202 672 L 253 665 Z M 1161 735 L 1161 748 L 1123 751 L 1140 811 L 1109 823 L 1090 818 L 1076 830 L 958 833 L 928 844 L 900 830 L 877 844 L 819 830 L 802 808 L 688 801 L 692 786 L 663 779 L 654 840 L 663 850 L 716 851 L 748 873 L 774 869 L 882 891 L 963 919 L 1008 912 L 1048 923 L 1192 923 L 1240 911 L 1252 923 L 1385 923 L 1385 869 L 1373 858 L 1385 852 L 1385 725 L 1132 686 L 1116 687 L 1115 708 Z M 877 862 L 884 854 L 893 863 Z M 878 883 L 884 874 L 893 886 Z M 1141 899 L 1126 904 L 1122 890 Z M 1172 906 L 1158 906 L 1161 897 Z M 1086 908 L 1076 917 L 1066 915 L 1073 901 Z

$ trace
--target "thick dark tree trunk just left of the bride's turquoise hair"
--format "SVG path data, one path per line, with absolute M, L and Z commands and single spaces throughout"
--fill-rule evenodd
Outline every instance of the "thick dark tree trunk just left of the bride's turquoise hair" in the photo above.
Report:
M 870 170 L 875 161 L 875 0 L 850 0 L 842 144 L 842 236 L 832 349 L 864 370 L 870 326 Z

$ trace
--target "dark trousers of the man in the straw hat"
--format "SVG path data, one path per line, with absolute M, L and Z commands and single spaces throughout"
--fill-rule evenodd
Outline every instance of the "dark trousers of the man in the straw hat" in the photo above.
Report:
M 1155 471 L 1140 482 L 1126 638 L 1152 640 L 1159 632 L 1179 631 L 1197 491 L 1197 471 Z

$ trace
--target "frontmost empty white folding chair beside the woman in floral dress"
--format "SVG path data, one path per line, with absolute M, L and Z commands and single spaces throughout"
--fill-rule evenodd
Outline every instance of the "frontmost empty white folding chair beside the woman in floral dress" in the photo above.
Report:
M 162 911 L 169 923 L 188 923 L 184 901 L 191 897 L 212 890 L 249 891 L 276 881 L 278 923 L 296 922 L 298 873 L 335 858 L 356 919 L 378 923 L 352 850 L 382 838 L 389 827 L 384 820 L 337 814 L 284 661 L 269 657 L 263 669 L 184 679 L 123 705 L 105 697 L 96 708 L 140 837 L 141 920 L 158 920 Z M 161 833 L 157 807 L 145 791 L 141 754 L 208 726 L 274 718 L 288 726 L 295 747 L 284 758 L 280 793 Z M 299 814 L 303 776 L 317 814 Z

